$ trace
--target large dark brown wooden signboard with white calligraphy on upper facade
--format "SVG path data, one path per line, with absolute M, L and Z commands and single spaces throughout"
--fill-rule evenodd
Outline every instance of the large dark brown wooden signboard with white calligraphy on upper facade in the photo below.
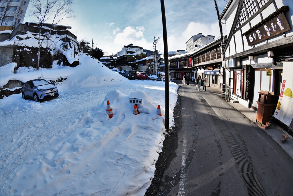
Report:
M 265 24 L 259 26 L 258 28 L 253 28 L 254 30 L 249 30 L 243 35 L 246 36 L 248 46 L 255 43 L 279 35 L 280 33 L 290 30 L 290 26 L 285 17 L 284 13 L 279 14 L 277 17 L 266 22 Z

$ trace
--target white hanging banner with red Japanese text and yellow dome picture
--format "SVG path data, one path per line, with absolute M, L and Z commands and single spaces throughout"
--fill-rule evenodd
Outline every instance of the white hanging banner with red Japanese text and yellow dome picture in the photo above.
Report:
M 290 127 L 293 118 L 293 63 L 283 62 L 283 81 L 274 117 Z M 291 126 L 292 127 L 292 126 Z

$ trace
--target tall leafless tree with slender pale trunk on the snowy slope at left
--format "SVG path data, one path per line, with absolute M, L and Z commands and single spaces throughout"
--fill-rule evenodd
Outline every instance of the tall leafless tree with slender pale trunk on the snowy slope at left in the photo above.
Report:
M 51 32 L 54 27 L 60 23 L 63 19 L 73 18 L 74 13 L 71 8 L 73 0 L 34 0 L 32 1 L 33 10 L 30 11 L 30 15 L 35 17 L 39 26 L 38 37 L 38 64 L 37 70 L 40 67 L 40 52 L 41 46 L 45 39 L 50 39 Z M 44 24 L 50 21 L 49 33 L 41 38 L 41 30 Z

